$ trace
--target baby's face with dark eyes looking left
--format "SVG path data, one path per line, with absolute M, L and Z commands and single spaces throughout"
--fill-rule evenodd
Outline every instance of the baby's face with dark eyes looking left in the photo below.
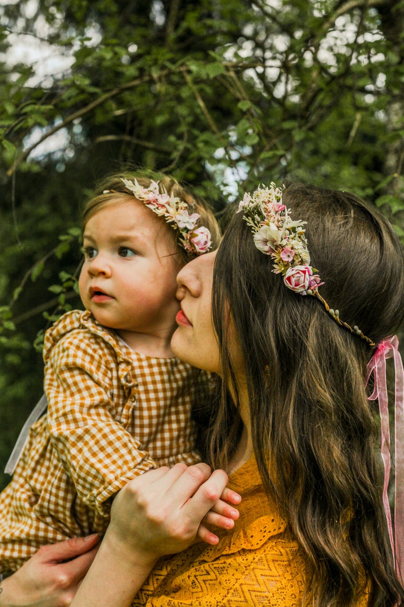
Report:
M 136 200 L 112 202 L 88 220 L 84 251 L 80 296 L 99 323 L 123 333 L 174 331 L 179 255 L 162 219 Z

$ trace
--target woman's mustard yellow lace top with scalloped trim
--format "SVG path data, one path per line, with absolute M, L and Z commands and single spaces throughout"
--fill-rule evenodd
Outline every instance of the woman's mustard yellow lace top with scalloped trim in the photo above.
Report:
M 254 459 L 231 475 L 230 487 L 243 497 L 234 529 L 215 529 L 217 546 L 200 543 L 161 559 L 132 607 L 310 605 L 302 552 L 268 504 Z M 365 605 L 365 598 L 358 603 Z

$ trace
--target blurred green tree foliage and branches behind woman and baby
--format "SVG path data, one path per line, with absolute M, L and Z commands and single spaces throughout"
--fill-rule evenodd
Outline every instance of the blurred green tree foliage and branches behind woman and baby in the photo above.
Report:
M 43 331 L 80 307 L 105 172 L 169 172 L 217 210 L 286 177 L 346 189 L 404 236 L 403 1 L 2 0 L 0 25 L 0 470 Z

